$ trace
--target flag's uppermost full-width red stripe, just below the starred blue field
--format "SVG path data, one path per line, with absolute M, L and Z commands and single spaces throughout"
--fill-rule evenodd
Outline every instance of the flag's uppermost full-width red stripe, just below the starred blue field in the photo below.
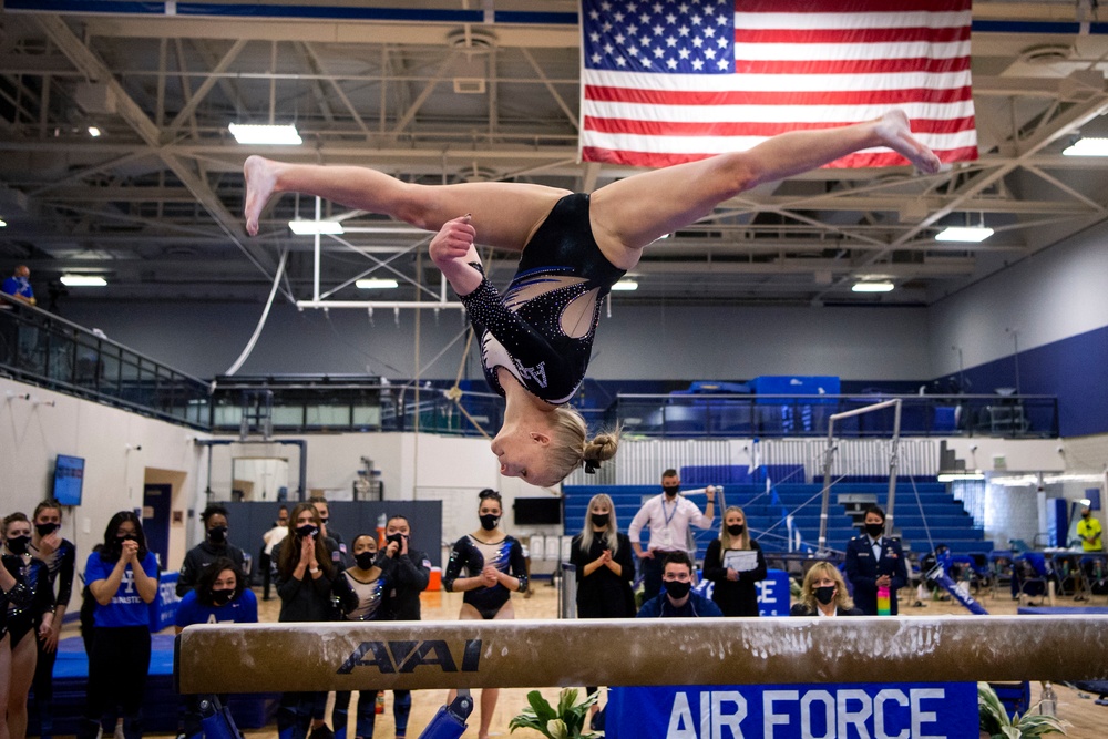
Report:
M 681 92 L 585 85 L 585 100 L 644 105 L 902 105 L 955 103 L 973 99 L 967 85 L 953 90 L 859 90 L 828 92 Z

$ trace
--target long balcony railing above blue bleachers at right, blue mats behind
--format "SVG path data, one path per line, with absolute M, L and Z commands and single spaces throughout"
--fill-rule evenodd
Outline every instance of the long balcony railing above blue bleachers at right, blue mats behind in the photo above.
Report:
M 907 437 L 1058 435 L 1054 396 L 648 396 L 620 394 L 598 418 L 645 437 L 819 437 L 828 419 L 875 402 L 902 400 L 901 433 Z M 837 424 L 837 435 L 889 437 L 893 411 Z

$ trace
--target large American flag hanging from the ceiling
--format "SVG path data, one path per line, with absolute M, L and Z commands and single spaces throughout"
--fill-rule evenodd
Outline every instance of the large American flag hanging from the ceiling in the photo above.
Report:
M 668 166 L 900 107 L 943 162 L 976 160 L 971 3 L 582 0 L 581 157 Z

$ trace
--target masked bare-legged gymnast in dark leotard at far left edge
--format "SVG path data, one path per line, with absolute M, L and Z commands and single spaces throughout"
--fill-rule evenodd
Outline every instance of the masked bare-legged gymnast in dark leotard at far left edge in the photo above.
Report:
M 8 606 L 8 638 L 11 651 L 11 679 L 8 682 L 7 729 L 11 739 L 27 736 L 27 695 L 34 677 L 38 659 L 38 629 L 50 628 L 54 610 L 54 593 L 50 588 L 47 565 L 31 556 L 31 522 L 23 513 L 12 513 L 3 520 L 3 568 L 27 585 L 31 601 L 22 606 Z

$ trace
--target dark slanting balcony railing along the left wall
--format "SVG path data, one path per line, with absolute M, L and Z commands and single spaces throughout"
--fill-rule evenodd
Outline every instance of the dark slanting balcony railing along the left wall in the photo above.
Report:
M 208 428 L 206 382 L 8 296 L 0 296 L 0 371 L 165 421 Z

